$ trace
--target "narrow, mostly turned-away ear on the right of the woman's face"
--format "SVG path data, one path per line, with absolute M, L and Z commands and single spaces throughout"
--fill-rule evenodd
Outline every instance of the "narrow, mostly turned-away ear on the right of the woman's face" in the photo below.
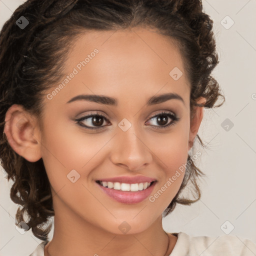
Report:
M 199 97 L 196 100 L 197 103 L 205 103 L 206 98 Z M 194 111 L 191 116 L 190 120 L 190 129 L 189 129 L 189 137 L 188 137 L 188 146 L 187 149 L 189 150 L 193 146 L 194 138 L 198 132 L 199 126 L 201 124 L 201 120 L 203 117 L 203 106 L 194 106 Z

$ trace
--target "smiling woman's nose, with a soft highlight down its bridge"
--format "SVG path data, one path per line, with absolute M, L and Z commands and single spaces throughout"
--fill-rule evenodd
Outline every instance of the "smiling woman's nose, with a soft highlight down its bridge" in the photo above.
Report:
M 144 168 L 153 159 L 146 140 L 145 135 L 135 134 L 133 126 L 127 131 L 119 130 L 111 147 L 111 161 L 132 171 Z

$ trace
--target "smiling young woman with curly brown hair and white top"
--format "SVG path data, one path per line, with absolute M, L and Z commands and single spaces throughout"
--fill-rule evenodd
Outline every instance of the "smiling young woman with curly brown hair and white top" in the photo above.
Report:
M 42 240 L 30 256 L 256 251 L 162 227 L 176 203 L 200 198 L 193 144 L 203 108 L 223 103 L 217 63 L 199 0 L 27 0 L 14 11 L 0 33 L 0 158 L 16 224 Z

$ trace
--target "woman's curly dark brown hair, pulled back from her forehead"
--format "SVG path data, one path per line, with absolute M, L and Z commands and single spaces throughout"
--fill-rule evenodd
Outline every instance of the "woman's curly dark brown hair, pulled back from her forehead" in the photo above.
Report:
M 24 29 L 15 24 L 20 16 L 29 21 Z M 7 180 L 14 181 L 10 198 L 22 206 L 16 212 L 16 224 L 24 221 L 26 213 L 29 229 L 46 240 L 54 210 L 42 158 L 29 162 L 11 148 L 3 133 L 5 113 L 12 104 L 21 104 L 40 119 L 43 92 L 63 76 L 63 63 L 74 39 L 85 29 L 135 26 L 154 28 L 174 39 L 190 82 L 192 117 L 194 106 L 218 107 L 225 100 L 210 75 L 219 62 L 212 25 L 200 0 L 27 0 L 14 11 L 0 32 L 0 160 Z M 219 96 L 223 101 L 214 105 Z M 206 101 L 197 103 L 199 97 Z M 196 138 L 205 146 L 198 134 Z M 187 163 L 182 184 L 164 216 L 176 203 L 189 205 L 200 198 L 197 179 L 205 174 L 189 153 Z M 180 196 L 188 182 L 194 199 Z

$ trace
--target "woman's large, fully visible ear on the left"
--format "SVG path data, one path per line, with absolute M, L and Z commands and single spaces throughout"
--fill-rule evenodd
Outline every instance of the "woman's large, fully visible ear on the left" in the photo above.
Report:
M 27 161 L 41 158 L 39 128 L 36 118 L 22 105 L 11 105 L 5 114 L 3 132 L 12 149 Z

